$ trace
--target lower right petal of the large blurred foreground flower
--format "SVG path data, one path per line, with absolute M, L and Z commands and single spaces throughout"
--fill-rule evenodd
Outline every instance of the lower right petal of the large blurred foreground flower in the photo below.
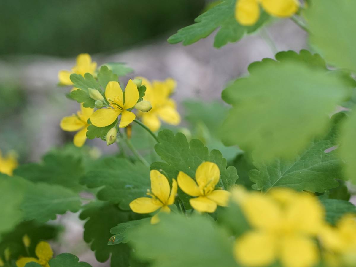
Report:
M 312 267 L 318 263 L 318 247 L 312 240 L 298 235 L 284 237 L 280 242 L 284 267 Z

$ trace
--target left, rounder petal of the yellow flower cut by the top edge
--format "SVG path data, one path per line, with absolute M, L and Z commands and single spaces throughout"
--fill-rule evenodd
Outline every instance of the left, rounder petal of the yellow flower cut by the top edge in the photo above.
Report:
M 256 0 L 238 0 L 235 6 L 235 19 L 241 25 L 253 25 L 260 17 L 260 6 Z

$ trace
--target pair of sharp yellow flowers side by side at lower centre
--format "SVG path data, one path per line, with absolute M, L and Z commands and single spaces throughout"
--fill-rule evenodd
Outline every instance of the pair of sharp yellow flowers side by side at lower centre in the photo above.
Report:
M 156 170 L 152 170 L 151 190 L 148 197 L 137 198 L 130 203 L 130 208 L 136 213 L 151 213 L 158 209 L 169 213 L 169 205 L 174 203 L 177 194 L 177 182 L 172 179 L 172 189 L 166 176 Z M 200 212 L 212 213 L 217 206 L 226 206 L 230 192 L 226 190 L 215 190 L 216 184 L 220 180 L 220 170 L 218 165 L 213 162 L 203 162 L 195 172 L 195 180 L 184 172 L 179 172 L 178 185 L 184 193 L 192 196 L 189 200 L 190 205 Z M 157 214 L 152 217 L 151 223 L 157 223 Z

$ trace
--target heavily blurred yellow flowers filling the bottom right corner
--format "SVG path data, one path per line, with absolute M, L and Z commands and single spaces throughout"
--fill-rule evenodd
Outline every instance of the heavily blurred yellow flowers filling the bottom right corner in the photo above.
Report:
M 269 266 L 279 260 L 285 267 L 312 267 L 324 257 L 330 266 L 355 266 L 354 215 L 330 226 L 317 198 L 285 188 L 265 195 L 235 189 L 232 200 L 251 226 L 235 242 L 234 254 L 242 265 Z

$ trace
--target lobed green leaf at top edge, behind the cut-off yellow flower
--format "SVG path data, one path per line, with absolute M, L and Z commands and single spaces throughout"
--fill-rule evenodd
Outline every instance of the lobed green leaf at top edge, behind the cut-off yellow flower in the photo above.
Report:
M 234 17 L 235 0 L 225 0 L 198 16 L 195 23 L 180 29 L 176 34 L 168 38 L 169 43 L 183 42 L 183 45 L 191 45 L 205 38 L 216 28 L 220 27 L 215 36 L 214 47 L 220 48 L 228 42 L 240 40 L 245 33 L 252 33 L 268 20 L 268 15 L 263 12 L 258 22 L 253 26 L 242 26 Z

